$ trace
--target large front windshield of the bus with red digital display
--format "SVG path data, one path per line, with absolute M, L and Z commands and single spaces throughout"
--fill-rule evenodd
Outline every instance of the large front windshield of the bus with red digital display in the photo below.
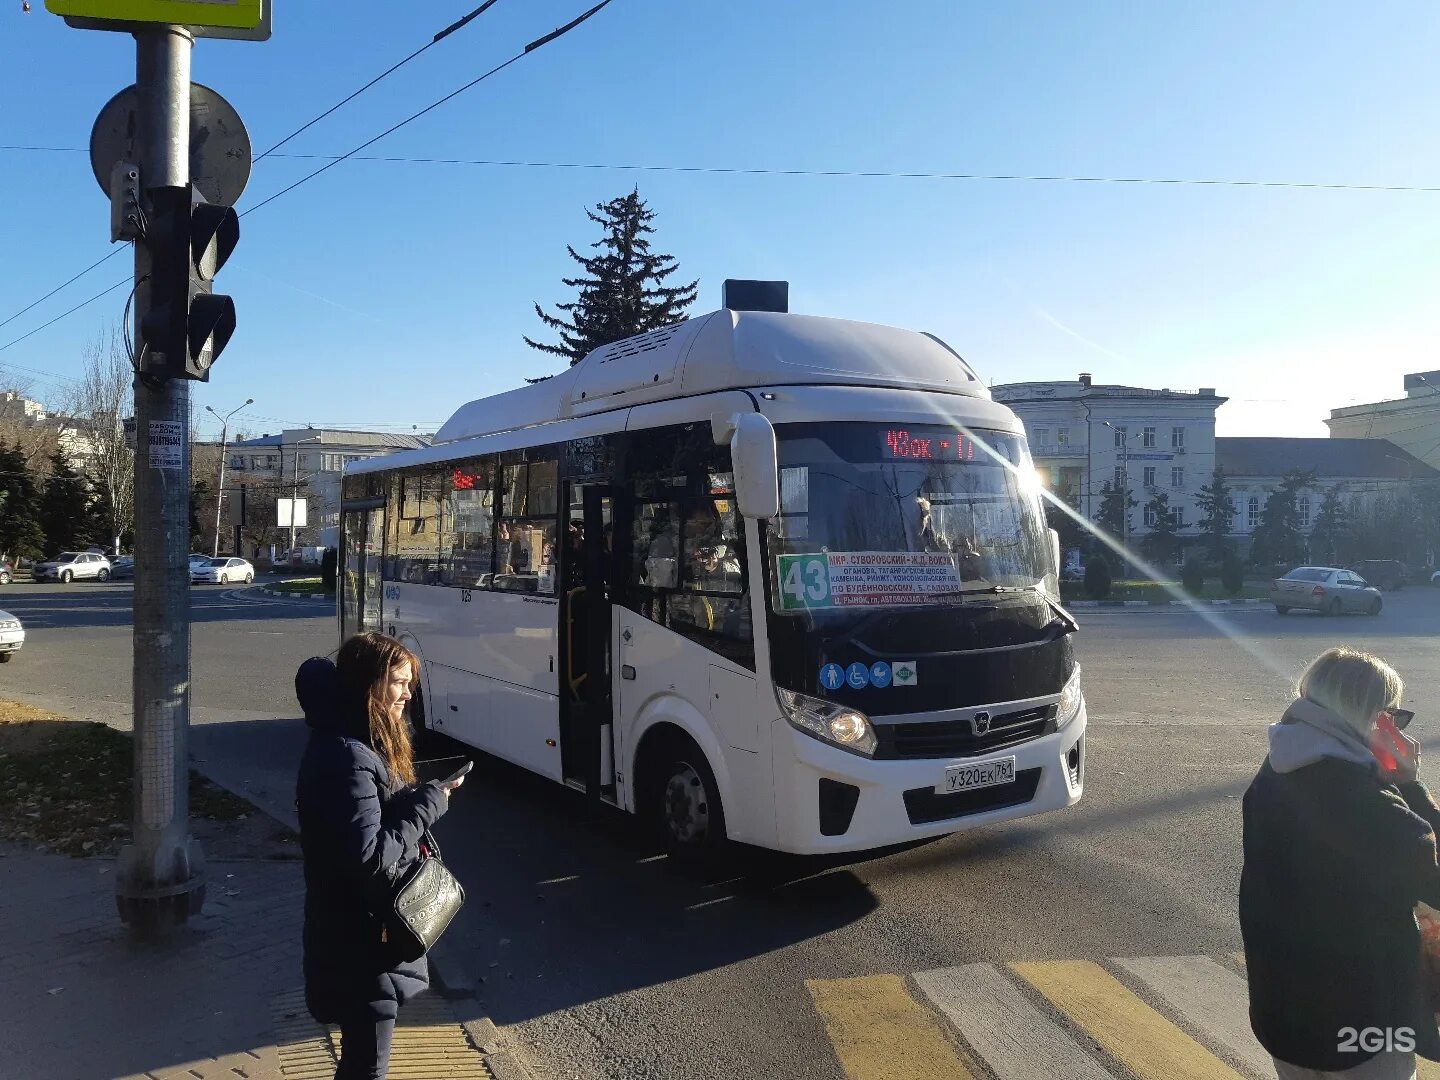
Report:
M 880 423 L 801 423 L 776 435 L 778 613 L 963 605 L 1043 586 L 1050 573 L 1024 436 Z

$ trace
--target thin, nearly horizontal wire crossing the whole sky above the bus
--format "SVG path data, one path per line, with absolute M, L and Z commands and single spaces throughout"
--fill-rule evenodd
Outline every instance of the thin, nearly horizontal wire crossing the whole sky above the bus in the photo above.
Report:
M 288 140 L 285 140 L 288 141 Z M 282 145 L 282 144 L 276 144 Z M 85 153 L 81 147 L 29 147 L 3 145 L 0 150 L 14 151 L 53 151 L 53 153 Z M 609 170 L 624 173 L 698 173 L 716 176 L 798 176 L 798 177 L 838 177 L 864 180 L 995 180 L 995 181 L 1024 181 L 1024 183 L 1057 183 L 1057 184 L 1161 184 L 1179 187 L 1276 187 L 1290 190 L 1313 192 L 1408 192 L 1418 194 L 1440 193 L 1440 186 L 1427 184 L 1355 184 L 1332 183 L 1320 180 L 1223 180 L 1204 177 L 1158 177 L 1158 176 L 1047 176 L 1025 173 L 935 173 L 935 171 L 897 171 L 884 168 L 776 168 L 769 166 L 665 166 L 665 164 L 625 164 L 616 161 L 523 161 L 510 158 L 477 158 L 477 157 L 400 157 L 393 154 L 276 154 L 274 148 L 266 151 L 268 157 L 279 157 L 291 161 L 373 161 L 383 164 L 410 166 L 494 166 L 507 168 L 580 168 L 580 170 Z M 256 158 L 259 160 L 259 158 Z M 0 324 L 3 325 L 3 324 Z

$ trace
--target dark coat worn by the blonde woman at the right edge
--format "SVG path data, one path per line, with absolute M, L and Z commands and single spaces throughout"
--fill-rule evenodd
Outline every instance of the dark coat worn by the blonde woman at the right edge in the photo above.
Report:
M 1240 929 L 1250 1021 L 1272 1056 L 1339 1071 L 1374 1056 L 1338 1050 L 1342 1028 L 1411 1028 L 1440 1060 L 1414 917 L 1416 901 L 1440 907 L 1437 825 L 1423 785 L 1371 765 L 1260 768 L 1244 798 Z

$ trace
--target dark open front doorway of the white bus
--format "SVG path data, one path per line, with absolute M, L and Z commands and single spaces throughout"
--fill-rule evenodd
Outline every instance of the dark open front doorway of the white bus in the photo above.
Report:
M 611 583 L 616 577 L 609 484 L 570 484 L 560 553 L 560 757 L 566 782 L 615 801 Z

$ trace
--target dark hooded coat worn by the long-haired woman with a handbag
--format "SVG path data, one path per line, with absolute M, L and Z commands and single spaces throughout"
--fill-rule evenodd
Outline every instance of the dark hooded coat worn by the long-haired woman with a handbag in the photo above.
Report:
M 305 855 L 305 1004 L 324 1024 L 393 1020 L 429 985 L 425 958 L 386 956 L 376 912 L 386 870 L 420 855 L 420 838 L 446 809 L 436 783 L 392 791 L 390 773 L 369 743 L 363 706 L 346 707 L 328 660 L 295 674 L 310 742 L 300 763 L 295 806 Z

